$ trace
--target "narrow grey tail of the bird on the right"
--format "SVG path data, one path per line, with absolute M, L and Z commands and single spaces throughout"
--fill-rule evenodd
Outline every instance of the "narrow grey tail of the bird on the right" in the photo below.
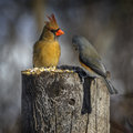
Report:
M 104 82 L 106 84 L 106 88 L 108 88 L 110 94 L 117 94 L 116 89 L 112 85 L 112 83 L 108 79 L 104 79 Z

